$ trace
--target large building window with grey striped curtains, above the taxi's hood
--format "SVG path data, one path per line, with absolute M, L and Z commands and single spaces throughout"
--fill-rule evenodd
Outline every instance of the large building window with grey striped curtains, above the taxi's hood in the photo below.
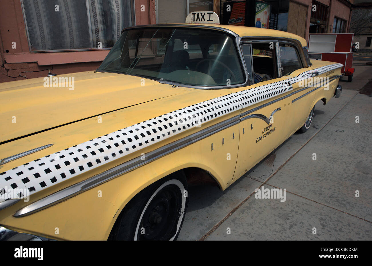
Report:
M 126 0 L 22 0 L 31 51 L 111 48 L 134 25 Z

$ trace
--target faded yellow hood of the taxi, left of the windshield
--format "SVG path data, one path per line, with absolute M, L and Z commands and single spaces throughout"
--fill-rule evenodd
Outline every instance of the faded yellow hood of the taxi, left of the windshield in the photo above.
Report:
M 146 78 L 93 71 L 4 82 L 0 143 L 183 91 Z

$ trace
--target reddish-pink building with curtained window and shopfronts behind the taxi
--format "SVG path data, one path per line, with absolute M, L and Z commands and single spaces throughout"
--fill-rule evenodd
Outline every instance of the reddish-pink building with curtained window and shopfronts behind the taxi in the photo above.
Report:
M 358 0 L 266 0 L 267 27 L 295 33 L 349 32 Z M 96 69 L 124 27 L 184 23 L 193 11 L 213 10 L 221 21 L 224 5 L 241 9 L 254 22 L 257 1 L 227 0 L 8 0 L 0 1 L 0 82 Z M 365 1 L 371 2 L 371 1 Z M 314 5 L 317 11 L 312 11 Z M 239 10 L 238 10 L 239 11 Z M 232 16 L 232 14 L 230 14 Z

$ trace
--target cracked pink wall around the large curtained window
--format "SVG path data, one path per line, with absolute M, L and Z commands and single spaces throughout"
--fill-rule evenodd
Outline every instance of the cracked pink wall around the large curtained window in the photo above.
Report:
M 141 5 L 145 11 L 141 11 Z M 0 82 L 94 70 L 109 49 L 71 52 L 30 52 L 20 0 L 0 1 Z M 155 23 L 152 0 L 135 1 L 136 25 Z M 16 42 L 16 49 L 12 49 Z

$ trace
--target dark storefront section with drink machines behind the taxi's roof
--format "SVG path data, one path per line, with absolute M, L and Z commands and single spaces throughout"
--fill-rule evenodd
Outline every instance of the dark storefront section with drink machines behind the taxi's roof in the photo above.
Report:
M 220 0 L 220 3 L 221 9 L 215 12 L 219 12 L 224 24 L 268 25 L 269 29 L 295 33 L 305 39 L 309 33 L 347 32 L 352 9 L 352 3 L 347 0 Z M 267 15 L 269 21 L 264 18 L 262 22 L 262 15 L 258 17 L 262 6 L 266 12 L 263 17 Z

